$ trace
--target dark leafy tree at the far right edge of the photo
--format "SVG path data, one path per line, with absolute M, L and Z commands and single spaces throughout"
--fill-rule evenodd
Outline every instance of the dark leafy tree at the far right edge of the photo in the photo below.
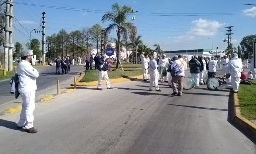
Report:
M 256 41 L 256 35 L 248 35 L 242 38 L 240 45 L 241 45 L 242 51 L 244 52 L 245 57 L 248 57 L 248 51 L 249 51 L 249 55 L 253 54 L 253 42 L 255 41 Z

